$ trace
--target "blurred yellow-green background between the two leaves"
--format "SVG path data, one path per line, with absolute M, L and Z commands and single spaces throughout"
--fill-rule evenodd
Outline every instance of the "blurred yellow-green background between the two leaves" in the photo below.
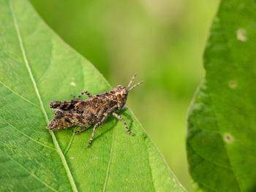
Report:
M 187 108 L 203 79 L 203 49 L 219 0 L 30 0 L 48 25 L 114 87 L 143 85 L 127 105 L 178 180 L 187 169 Z M 63 61 L 65 62 L 65 61 Z

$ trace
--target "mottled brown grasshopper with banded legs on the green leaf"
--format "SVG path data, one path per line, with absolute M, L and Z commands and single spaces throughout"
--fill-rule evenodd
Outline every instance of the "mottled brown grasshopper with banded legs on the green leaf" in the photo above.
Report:
M 75 100 L 51 101 L 50 108 L 54 108 L 56 110 L 53 111 L 54 118 L 50 121 L 47 128 L 50 130 L 59 130 L 61 128 L 80 126 L 80 130 L 74 133 L 79 134 L 84 131 L 86 127 L 94 124 L 91 139 L 87 145 L 87 147 L 89 147 L 94 139 L 95 130 L 105 122 L 108 115 L 112 114 L 124 123 L 128 134 L 133 136 L 129 131 L 124 118 L 116 114 L 116 111 L 119 111 L 124 107 L 129 91 L 143 82 L 141 81 L 129 88 L 135 77 L 136 74 L 132 77 L 132 80 L 130 80 L 127 88 L 122 85 L 118 85 L 116 88 L 105 93 L 99 93 L 96 96 L 91 96 L 88 91 L 83 91 L 78 97 L 72 95 Z M 89 99 L 80 100 L 80 97 L 84 93 L 89 96 Z

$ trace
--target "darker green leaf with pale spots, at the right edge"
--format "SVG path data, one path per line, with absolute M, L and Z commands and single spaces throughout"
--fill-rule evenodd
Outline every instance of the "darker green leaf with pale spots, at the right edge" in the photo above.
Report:
M 189 110 L 189 171 L 203 191 L 256 191 L 256 3 L 223 0 Z

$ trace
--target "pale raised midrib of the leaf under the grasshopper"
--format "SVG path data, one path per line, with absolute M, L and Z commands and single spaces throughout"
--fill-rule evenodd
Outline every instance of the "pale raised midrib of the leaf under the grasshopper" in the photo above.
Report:
M 19 26 L 18 26 L 18 22 L 17 22 L 17 19 L 16 19 L 16 15 L 15 15 L 14 9 L 13 9 L 13 7 L 12 7 L 12 0 L 9 1 L 9 7 L 10 7 L 11 15 L 12 15 L 12 20 L 13 20 L 13 23 L 14 23 L 14 25 L 15 25 L 15 31 L 16 31 L 17 36 L 18 36 L 18 41 L 19 41 L 19 45 L 20 45 L 20 50 L 21 50 L 22 55 L 23 55 L 23 60 L 24 60 L 24 62 L 25 62 L 25 64 L 26 64 L 26 69 L 28 70 L 28 72 L 29 72 L 29 77 L 31 78 L 31 81 L 32 81 L 32 83 L 33 83 L 33 85 L 34 85 L 34 90 L 35 90 L 35 92 L 36 92 L 36 94 L 37 94 L 37 98 L 38 98 L 38 100 L 39 100 L 39 104 L 40 104 L 42 113 L 43 113 L 43 115 L 44 115 L 44 117 L 45 117 L 45 121 L 46 121 L 46 123 L 49 123 L 48 115 L 47 115 L 47 113 L 46 113 L 46 111 L 45 111 L 44 105 L 42 104 L 42 99 L 41 99 L 39 90 L 38 90 L 38 88 L 37 88 L 37 83 L 36 83 L 35 80 L 34 80 L 34 76 L 33 76 L 32 72 L 31 72 L 31 67 L 29 66 L 29 61 L 28 61 L 28 59 L 26 58 L 26 51 L 25 51 L 24 46 L 23 46 L 23 40 L 22 40 L 22 37 L 21 37 L 21 34 L 20 34 L 20 28 L 19 28 Z M 50 133 L 50 136 L 51 136 L 52 139 L 53 139 L 53 143 L 54 143 L 54 146 L 56 147 L 56 151 L 57 151 L 57 153 L 59 154 L 59 156 L 60 156 L 60 158 L 61 158 L 61 162 L 62 162 L 62 164 L 63 164 L 63 166 L 64 166 L 64 169 L 65 169 L 65 171 L 66 171 L 66 173 L 67 173 L 67 177 L 68 177 L 68 179 L 69 179 L 69 183 L 70 183 L 70 185 L 71 185 L 71 187 L 72 187 L 72 190 L 73 190 L 73 191 L 78 191 L 78 188 L 77 188 L 77 186 L 75 185 L 75 180 L 74 180 L 74 178 L 72 177 L 72 174 L 71 174 L 71 172 L 70 172 L 69 166 L 67 165 L 67 161 L 66 161 L 66 159 L 65 159 L 65 157 L 64 157 L 64 154 L 63 154 L 61 148 L 59 147 L 59 142 L 57 141 L 57 139 L 56 139 L 55 134 L 53 133 L 53 131 L 50 131 L 50 130 L 49 130 L 49 133 Z

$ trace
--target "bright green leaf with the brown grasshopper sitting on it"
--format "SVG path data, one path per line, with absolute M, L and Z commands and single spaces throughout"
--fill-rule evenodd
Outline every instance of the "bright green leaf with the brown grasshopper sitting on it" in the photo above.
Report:
M 127 107 L 135 137 L 113 117 L 89 149 L 91 129 L 48 131 L 50 101 L 110 85 L 28 1 L 0 0 L 0 18 L 0 191 L 184 191 Z

